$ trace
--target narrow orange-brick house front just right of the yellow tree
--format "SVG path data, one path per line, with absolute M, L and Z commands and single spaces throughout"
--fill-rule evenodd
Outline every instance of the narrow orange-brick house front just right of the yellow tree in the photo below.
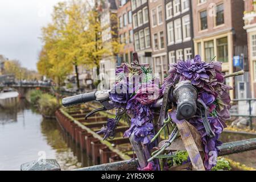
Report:
M 133 41 L 133 15 L 131 13 L 131 1 L 117 1 L 118 10 L 118 37 L 123 48 L 118 55 L 118 64 L 131 63 L 134 52 Z

